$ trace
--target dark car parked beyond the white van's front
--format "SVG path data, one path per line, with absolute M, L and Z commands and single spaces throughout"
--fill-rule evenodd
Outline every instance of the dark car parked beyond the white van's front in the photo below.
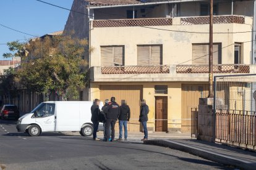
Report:
M 0 112 L 1 119 L 19 119 L 20 112 L 15 105 L 3 105 Z

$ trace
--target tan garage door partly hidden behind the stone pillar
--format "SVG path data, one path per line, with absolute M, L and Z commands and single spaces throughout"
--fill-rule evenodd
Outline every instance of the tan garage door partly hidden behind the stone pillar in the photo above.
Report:
M 199 98 L 208 96 L 208 84 L 182 84 L 181 131 L 191 131 L 191 108 L 198 108 Z

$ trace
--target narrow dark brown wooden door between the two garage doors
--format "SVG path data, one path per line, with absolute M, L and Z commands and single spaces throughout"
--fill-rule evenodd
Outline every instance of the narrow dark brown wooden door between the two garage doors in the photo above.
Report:
M 156 97 L 156 132 L 167 132 L 168 110 L 167 97 Z

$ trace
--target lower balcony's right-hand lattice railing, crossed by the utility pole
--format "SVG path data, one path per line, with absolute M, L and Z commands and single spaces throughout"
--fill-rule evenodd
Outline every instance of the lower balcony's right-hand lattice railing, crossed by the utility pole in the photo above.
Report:
M 209 73 L 209 65 L 177 65 L 177 73 Z M 213 73 L 250 73 L 250 65 L 213 65 Z

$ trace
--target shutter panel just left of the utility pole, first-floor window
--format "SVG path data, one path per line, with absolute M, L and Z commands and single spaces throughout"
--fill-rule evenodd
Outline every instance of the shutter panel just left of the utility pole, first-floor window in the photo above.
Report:
M 208 50 L 206 44 L 192 45 L 192 64 L 205 65 L 207 64 Z

